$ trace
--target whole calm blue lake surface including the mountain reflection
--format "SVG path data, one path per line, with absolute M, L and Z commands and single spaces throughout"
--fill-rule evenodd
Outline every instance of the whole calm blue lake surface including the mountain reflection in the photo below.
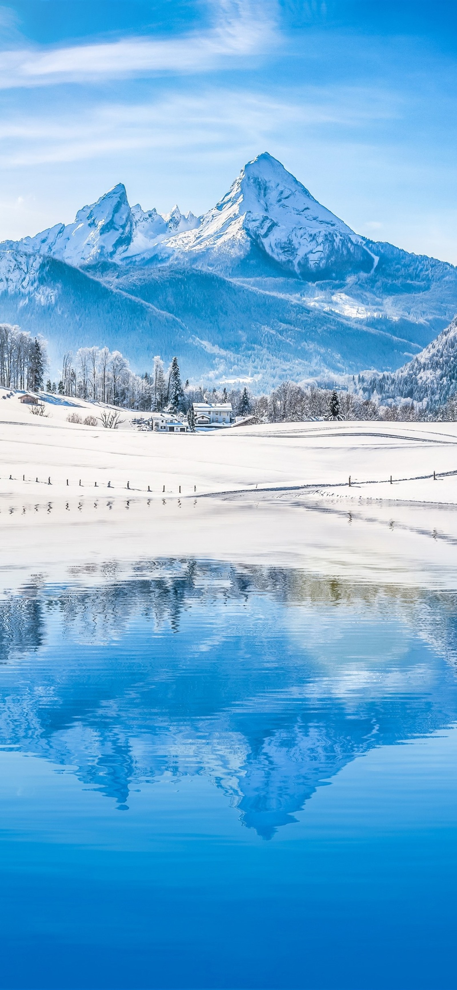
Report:
M 112 564 L 0 659 L 1 987 L 457 987 L 457 597 Z

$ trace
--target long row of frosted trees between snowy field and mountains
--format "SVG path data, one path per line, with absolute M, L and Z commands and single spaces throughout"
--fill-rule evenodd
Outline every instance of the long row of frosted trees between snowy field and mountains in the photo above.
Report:
M 6 388 L 44 388 L 46 346 L 19 327 L 0 324 L 0 385 Z M 183 384 L 176 357 L 165 368 L 155 356 L 151 371 L 132 371 L 119 351 L 108 347 L 80 347 L 64 354 L 58 382 L 47 379 L 46 390 L 60 395 L 103 402 L 141 412 L 169 410 L 186 416 L 194 402 L 230 403 L 235 416 L 251 416 L 256 423 L 341 420 L 452 420 L 457 421 L 457 396 L 430 411 L 422 403 L 392 399 L 383 405 L 380 395 L 367 396 L 363 376 L 352 378 L 349 390 L 304 387 L 284 381 L 269 394 L 254 396 L 247 387 L 220 388 Z

